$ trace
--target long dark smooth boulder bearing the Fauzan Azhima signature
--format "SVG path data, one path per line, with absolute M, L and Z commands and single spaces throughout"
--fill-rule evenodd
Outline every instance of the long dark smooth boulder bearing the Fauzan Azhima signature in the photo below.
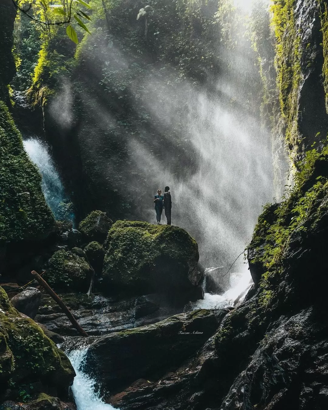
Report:
M 137 379 L 176 369 L 215 333 L 225 314 L 195 310 L 106 335 L 90 345 L 86 366 L 101 375 L 105 396 L 118 393 Z

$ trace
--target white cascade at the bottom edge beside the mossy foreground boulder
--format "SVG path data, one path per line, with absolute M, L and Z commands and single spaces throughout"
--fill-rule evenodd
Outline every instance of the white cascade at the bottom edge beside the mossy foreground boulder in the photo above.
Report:
M 72 392 L 77 410 L 114 410 L 113 406 L 104 403 L 100 398 L 96 391 L 97 382 L 84 372 L 87 351 L 87 348 L 82 348 L 68 354 L 76 373 Z

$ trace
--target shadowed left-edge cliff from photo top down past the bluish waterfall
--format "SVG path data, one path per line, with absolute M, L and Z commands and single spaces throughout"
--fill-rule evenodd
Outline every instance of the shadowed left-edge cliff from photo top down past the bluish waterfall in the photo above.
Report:
M 0 68 L 0 261 L 2 274 L 10 276 L 11 269 L 19 269 L 27 255 L 35 254 L 37 244 L 48 238 L 54 218 L 41 191 L 41 175 L 25 153 L 8 108 L 7 84 L 15 74 L 11 48 L 16 10 L 9 0 L 0 7 L 4 57 Z M 22 249 L 20 255 L 18 248 Z

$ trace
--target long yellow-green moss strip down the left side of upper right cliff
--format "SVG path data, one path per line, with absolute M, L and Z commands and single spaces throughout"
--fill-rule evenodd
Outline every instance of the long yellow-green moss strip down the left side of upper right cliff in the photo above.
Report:
M 300 144 L 298 129 L 299 87 L 301 83 L 301 39 L 294 20 L 295 0 L 277 0 L 271 6 L 276 36 L 275 66 L 280 111 L 285 120 L 285 138 L 296 157 Z

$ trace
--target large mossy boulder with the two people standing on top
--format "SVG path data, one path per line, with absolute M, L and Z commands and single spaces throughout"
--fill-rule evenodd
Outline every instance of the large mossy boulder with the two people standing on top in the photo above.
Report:
M 117 221 L 105 244 L 103 280 L 108 292 L 202 297 L 198 246 L 188 232 L 169 225 Z

